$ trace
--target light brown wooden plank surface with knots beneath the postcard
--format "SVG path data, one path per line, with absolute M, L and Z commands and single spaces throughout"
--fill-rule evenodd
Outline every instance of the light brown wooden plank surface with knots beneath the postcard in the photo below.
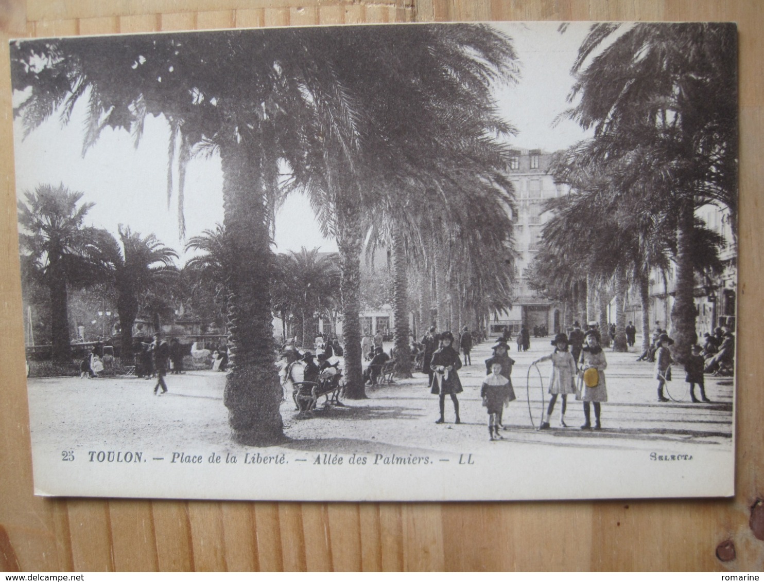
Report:
M 764 2 L 27 0 L 0 4 L 0 570 L 758 571 L 764 497 Z M 595 503 L 231 503 L 32 495 L 8 38 L 186 28 L 476 20 L 737 21 L 740 282 L 736 497 Z M 731 540 L 734 561 L 715 552 Z M 552 541 L 552 543 L 549 543 Z

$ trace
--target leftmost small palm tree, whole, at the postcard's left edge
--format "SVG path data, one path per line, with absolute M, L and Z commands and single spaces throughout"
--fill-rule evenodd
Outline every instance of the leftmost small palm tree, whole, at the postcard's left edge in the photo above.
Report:
M 24 191 L 27 202 L 18 203 L 21 252 L 28 253 L 34 271 L 50 292 L 50 339 L 54 362 L 70 359 L 67 286 L 89 285 L 98 280 L 95 256 L 98 234 L 85 227 L 85 216 L 93 203 L 80 204 L 83 192 L 63 184 L 40 185 Z

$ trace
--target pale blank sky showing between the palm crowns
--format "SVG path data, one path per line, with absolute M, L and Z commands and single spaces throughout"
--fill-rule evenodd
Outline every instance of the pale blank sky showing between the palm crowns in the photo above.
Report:
M 513 39 L 520 59 L 521 79 L 517 85 L 497 88 L 497 104 L 519 133 L 510 140 L 523 148 L 555 151 L 584 137 L 572 121 L 552 122 L 568 107 L 566 98 L 573 79 L 569 74 L 578 46 L 588 29 L 572 23 L 559 34 L 558 23 L 494 24 Z M 15 95 L 15 102 L 21 98 Z M 24 191 L 40 184 L 63 184 L 83 192 L 82 201 L 95 202 L 86 223 L 117 232 L 119 224 L 144 236 L 157 235 L 182 254 L 178 230 L 177 175 L 168 206 L 167 168 L 169 130 L 163 117 L 150 117 L 136 147 L 122 130 L 104 130 L 99 141 L 84 156 L 82 151 L 86 104 L 80 100 L 69 124 L 62 126 L 57 115 L 22 140 L 21 121 L 15 121 L 16 188 Z M 222 172 L 218 156 L 199 156 L 189 162 L 184 191 L 186 236 L 222 223 Z M 277 252 L 320 247 L 337 249 L 334 240 L 324 239 L 303 195 L 293 194 L 276 220 Z

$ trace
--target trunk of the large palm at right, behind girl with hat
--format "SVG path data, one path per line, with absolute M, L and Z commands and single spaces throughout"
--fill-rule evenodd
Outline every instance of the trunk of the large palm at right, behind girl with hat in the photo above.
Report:
M 695 287 L 692 265 L 692 240 L 695 207 L 692 199 L 685 199 L 679 210 L 676 253 L 676 295 L 671 310 L 672 335 L 675 344 L 672 357 L 684 364 L 690 355 L 690 346 L 695 341 L 695 307 L 693 291 Z

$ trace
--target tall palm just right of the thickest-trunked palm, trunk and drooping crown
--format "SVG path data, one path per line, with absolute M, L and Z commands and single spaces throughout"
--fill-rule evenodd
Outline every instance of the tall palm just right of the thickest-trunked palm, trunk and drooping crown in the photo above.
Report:
M 485 175 L 501 166 L 503 148 L 494 137 L 512 128 L 497 117 L 491 88 L 513 78 L 515 56 L 506 37 L 481 25 L 460 24 L 448 31 L 430 25 L 344 29 L 339 36 L 355 48 L 345 51 L 337 43 L 329 61 L 350 98 L 342 100 L 347 106 L 341 111 L 319 113 L 325 127 L 334 118 L 348 119 L 350 132 L 325 134 L 319 155 L 303 164 L 322 172 L 310 172 L 301 181 L 325 233 L 337 240 L 347 394 L 361 398 L 358 292 L 364 214 L 385 199 L 420 197 L 425 188 L 437 187 L 432 176 L 448 175 L 457 150 L 456 172 L 480 168 Z M 488 167 L 486 152 L 493 156 Z M 434 171 L 428 173 L 422 159 Z M 419 188 L 413 191 L 410 180 L 417 178 Z

